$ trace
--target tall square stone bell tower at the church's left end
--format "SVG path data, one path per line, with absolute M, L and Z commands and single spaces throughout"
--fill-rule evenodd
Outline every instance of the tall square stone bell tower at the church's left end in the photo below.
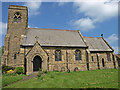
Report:
M 18 61 L 21 35 L 28 27 L 28 9 L 26 6 L 9 6 L 7 34 L 5 36 L 2 64 L 14 66 Z

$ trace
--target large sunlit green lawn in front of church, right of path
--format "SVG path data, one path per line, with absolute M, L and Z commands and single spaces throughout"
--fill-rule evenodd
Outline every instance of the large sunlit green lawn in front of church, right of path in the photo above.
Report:
M 9 79 L 6 81 L 9 82 Z M 6 88 L 118 88 L 118 70 L 48 72 L 43 80 L 32 78 Z

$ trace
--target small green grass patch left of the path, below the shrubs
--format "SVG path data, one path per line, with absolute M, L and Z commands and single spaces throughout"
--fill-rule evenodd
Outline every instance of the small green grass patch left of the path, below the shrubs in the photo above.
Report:
M 6 86 L 13 82 L 19 81 L 23 79 L 25 75 L 2 75 L 2 86 Z

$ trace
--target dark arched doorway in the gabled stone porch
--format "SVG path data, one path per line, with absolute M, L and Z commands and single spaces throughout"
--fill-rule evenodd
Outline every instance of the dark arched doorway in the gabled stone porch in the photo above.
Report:
M 42 68 L 42 60 L 40 56 L 35 56 L 33 59 L 33 71 L 39 71 Z

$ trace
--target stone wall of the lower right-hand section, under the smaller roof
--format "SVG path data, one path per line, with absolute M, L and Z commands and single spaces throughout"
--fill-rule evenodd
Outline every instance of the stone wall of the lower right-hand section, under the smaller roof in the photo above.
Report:
M 113 52 L 110 52 L 110 58 L 111 60 L 109 61 L 107 58 L 107 53 L 108 52 L 98 52 L 98 53 L 91 53 L 91 57 L 93 56 L 93 61 L 92 58 L 89 60 L 90 64 L 90 70 L 95 70 L 98 69 L 98 64 L 99 64 L 99 69 L 107 69 L 107 68 L 118 68 L 118 63 L 116 61 L 116 57 L 114 56 L 113 60 Z M 98 55 L 98 57 L 97 57 Z M 102 59 L 104 59 L 104 67 L 102 64 Z M 115 62 L 115 65 L 114 65 Z

